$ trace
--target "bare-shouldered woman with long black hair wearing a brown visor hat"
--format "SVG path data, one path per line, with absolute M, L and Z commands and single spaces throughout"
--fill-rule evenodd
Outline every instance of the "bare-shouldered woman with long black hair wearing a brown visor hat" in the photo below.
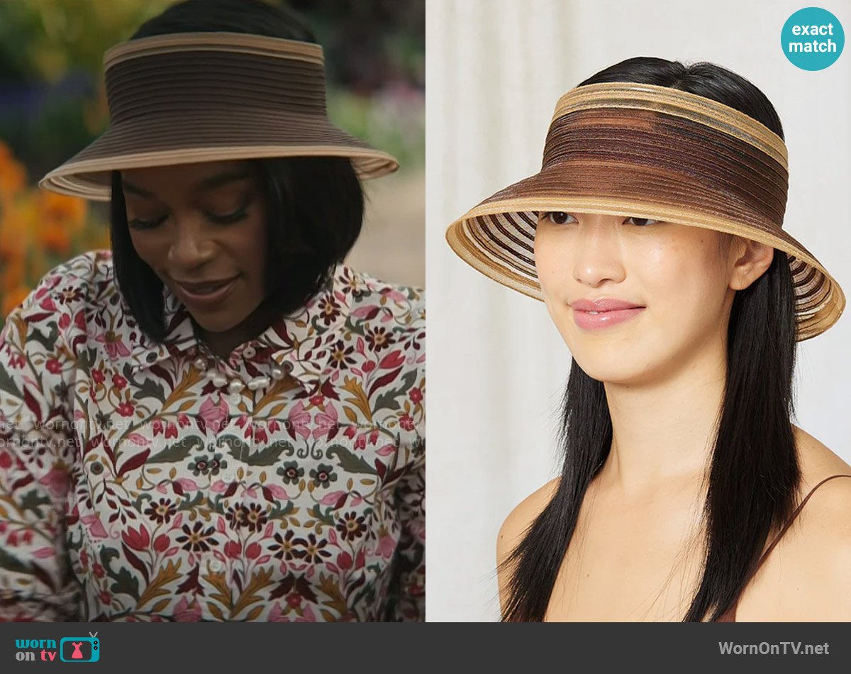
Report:
M 603 83 L 650 86 L 591 105 L 582 89 L 603 100 Z M 851 620 L 851 479 L 838 478 L 851 466 L 792 424 L 796 341 L 835 323 L 844 300 L 780 231 L 774 107 L 720 66 L 644 57 L 559 106 L 541 173 L 447 235 L 472 266 L 544 300 L 573 356 L 561 475 L 500 529 L 502 620 Z M 629 189 L 631 217 L 623 198 L 611 205 Z M 722 211 L 736 201 L 755 205 Z M 653 208 L 703 208 L 702 220 L 654 220 Z M 763 216 L 776 229 L 752 226 Z M 823 306 L 804 311 L 816 295 Z M 819 311 L 829 318 L 813 328 Z

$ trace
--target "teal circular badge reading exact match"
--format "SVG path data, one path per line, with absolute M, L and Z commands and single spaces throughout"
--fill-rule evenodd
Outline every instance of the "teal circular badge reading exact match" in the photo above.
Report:
M 798 9 L 780 31 L 783 53 L 802 70 L 824 70 L 839 58 L 844 46 L 842 24 L 820 7 Z

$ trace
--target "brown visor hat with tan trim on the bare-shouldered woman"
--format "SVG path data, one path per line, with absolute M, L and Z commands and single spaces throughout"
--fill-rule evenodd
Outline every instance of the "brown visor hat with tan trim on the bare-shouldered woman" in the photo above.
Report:
M 446 231 L 454 252 L 542 300 L 534 232 L 542 211 L 652 218 L 728 232 L 788 256 L 797 340 L 836 323 L 842 288 L 783 230 L 783 139 L 744 113 L 678 89 L 597 83 L 558 100 L 540 173 L 472 208 Z

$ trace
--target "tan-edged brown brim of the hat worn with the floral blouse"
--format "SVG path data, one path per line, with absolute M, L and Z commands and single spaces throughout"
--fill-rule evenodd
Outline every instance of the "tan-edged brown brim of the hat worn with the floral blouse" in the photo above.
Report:
M 45 175 L 40 187 L 109 201 L 111 171 L 263 157 L 348 157 L 361 179 L 397 170 L 394 157 L 347 134 L 325 117 L 245 110 L 133 117 Z

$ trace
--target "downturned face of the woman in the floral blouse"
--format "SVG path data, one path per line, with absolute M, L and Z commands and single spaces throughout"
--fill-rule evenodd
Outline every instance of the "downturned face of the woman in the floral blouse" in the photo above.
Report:
M 122 172 L 130 238 L 142 260 L 210 333 L 264 299 L 266 207 L 245 162 Z

